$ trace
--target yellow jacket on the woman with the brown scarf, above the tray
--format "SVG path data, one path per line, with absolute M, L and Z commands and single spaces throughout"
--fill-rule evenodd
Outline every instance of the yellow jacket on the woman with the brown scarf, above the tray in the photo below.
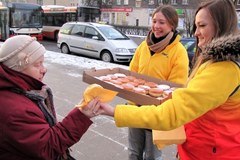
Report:
M 146 41 L 137 48 L 129 70 L 147 76 L 185 84 L 188 77 L 188 55 L 180 36 L 160 53 L 151 55 Z

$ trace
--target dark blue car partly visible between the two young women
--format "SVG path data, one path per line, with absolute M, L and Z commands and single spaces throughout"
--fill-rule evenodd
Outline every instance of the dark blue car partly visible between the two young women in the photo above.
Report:
M 189 66 L 191 67 L 192 59 L 196 51 L 196 39 L 195 38 L 181 38 L 181 43 L 186 48 L 189 58 Z

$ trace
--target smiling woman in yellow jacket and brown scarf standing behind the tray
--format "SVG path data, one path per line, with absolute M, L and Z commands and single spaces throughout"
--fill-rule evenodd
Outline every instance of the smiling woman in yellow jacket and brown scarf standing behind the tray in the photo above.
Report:
M 156 8 L 152 29 L 137 48 L 129 69 L 147 76 L 185 84 L 188 77 L 188 56 L 177 33 L 178 15 L 172 6 Z M 129 160 L 161 160 L 161 151 L 152 141 L 151 130 L 129 128 Z

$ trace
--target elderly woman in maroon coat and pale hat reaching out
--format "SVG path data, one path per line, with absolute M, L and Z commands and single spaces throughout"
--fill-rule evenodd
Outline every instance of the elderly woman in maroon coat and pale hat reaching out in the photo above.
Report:
M 35 38 L 9 38 L 0 49 L 0 159 L 74 159 L 68 148 L 92 124 L 88 110 L 75 107 L 57 122 L 52 92 L 43 82 L 45 48 Z

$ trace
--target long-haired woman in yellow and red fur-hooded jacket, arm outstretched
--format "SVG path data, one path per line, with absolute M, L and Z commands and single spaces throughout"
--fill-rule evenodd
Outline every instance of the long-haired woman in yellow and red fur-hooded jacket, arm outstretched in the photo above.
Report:
M 240 34 L 232 1 L 206 1 L 196 12 L 194 31 L 202 52 L 185 88 L 158 106 L 101 104 L 98 113 L 114 116 L 118 127 L 172 130 L 184 125 L 181 160 L 239 160 Z

